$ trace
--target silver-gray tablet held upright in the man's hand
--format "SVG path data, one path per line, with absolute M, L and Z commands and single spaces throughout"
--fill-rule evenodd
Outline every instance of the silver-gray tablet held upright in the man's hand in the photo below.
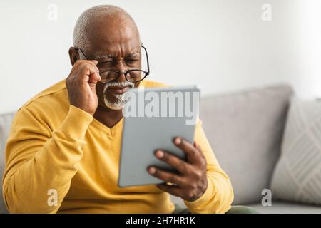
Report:
M 185 153 L 175 147 L 173 138 L 181 136 L 194 142 L 199 98 L 198 86 L 128 90 L 123 108 L 119 187 L 162 183 L 148 173 L 151 165 L 175 172 L 154 153 L 163 149 L 185 160 Z

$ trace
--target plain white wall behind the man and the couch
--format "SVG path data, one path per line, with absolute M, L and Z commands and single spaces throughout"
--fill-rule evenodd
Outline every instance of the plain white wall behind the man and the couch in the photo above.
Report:
M 261 19 L 265 3 L 272 21 Z M 47 19 L 49 4 L 58 6 L 57 21 Z M 136 19 L 150 79 L 198 83 L 203 95 L 275 83 L 304 98 L 321 95 L 317 0 L 7 0 L 0 1 L 0 113 L 68 76 L 73 26 L 96 4 L 116 4 Z

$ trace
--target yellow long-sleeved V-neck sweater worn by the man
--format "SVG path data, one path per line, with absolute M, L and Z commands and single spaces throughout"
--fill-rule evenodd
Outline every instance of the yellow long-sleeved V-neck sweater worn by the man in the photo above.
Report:
M 146 80 L 141 86 L 164 85 Z M 3 195 L 9 212 L 173 212 L 168 193 L 155 185 L 118 187 L 122 130 L 123 119 L 108 128 L 70 105 L 64 80 L 29 100 L 16 113 L 6 144 Z M 227 212 L 233 189 L 200 122 L 195 142 L 208 162 L 208 188 L 202 197 L 185 204 L 195 213 Z M 51 200 L 53 190 L 56 203 Z

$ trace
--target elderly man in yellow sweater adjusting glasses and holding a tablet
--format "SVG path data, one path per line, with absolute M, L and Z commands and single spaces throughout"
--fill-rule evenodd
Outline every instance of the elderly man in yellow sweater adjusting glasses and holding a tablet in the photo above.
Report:
M 165 184 L 118 187 L 124 93 L 165 86 L 146 80 L 145 51 L 123 9 L 95 6 L 81 14 L 69 49 L 68 78 L 29 100 L 14 118 L 3 180 L 9 212 L 171 213 L 169 194 L 184 199 L 189 212 L 228 212 L 233 189 L 200 122 L 194 145 L 173 140 L 187 161 L 155 153 L 179 174 L 149 167 L 146 172 Z

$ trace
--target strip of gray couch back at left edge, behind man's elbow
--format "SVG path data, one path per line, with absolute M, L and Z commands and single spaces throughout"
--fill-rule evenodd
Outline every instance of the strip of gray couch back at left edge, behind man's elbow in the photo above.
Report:
M 2 114 L 0 115 L 0 214 L 6 213 L 6 206 L 4 205 L 4 199 L 2 197 L 2 176 L 4 172 L 5 165 L 5 155 L 4 155 L 4 147 L 6 145 L 6 139 L 8 138 L 8 134 L 11 128 L 11 122 L 14 118 L 14 113 Z

